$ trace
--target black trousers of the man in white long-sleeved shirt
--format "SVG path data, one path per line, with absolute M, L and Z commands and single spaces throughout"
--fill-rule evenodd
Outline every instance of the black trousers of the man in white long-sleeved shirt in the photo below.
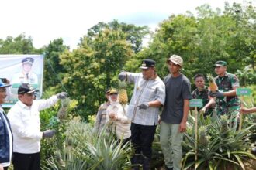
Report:
M 40 152 L 35 154 L 14 152 L 12 164 L 14 170 L 40 170 Z

